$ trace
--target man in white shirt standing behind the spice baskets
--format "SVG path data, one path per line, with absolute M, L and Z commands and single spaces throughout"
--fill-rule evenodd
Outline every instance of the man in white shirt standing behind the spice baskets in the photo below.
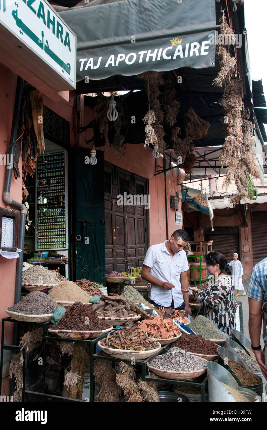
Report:
M 150 301 L 153 304 L 183 309 L 186 316 L 191 315 L 187 294 L 189 267 L 184 251 L 187 241 L 185 230 L 175 230 L 169 240 L 150 246 L 141 273 L 142 278 L 151 283 Z

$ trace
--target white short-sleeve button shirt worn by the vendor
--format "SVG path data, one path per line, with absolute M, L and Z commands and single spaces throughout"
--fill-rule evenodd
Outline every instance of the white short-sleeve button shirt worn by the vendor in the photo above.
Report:
M 150 300 L 163 307 L 169 307 L 174 302 L 174 307 L 179 307 L 184 302 L 181 292 L 180 274 L 189 269 L 187 256 L 184 250 L 177 252 L 173 257 L 167 250 L 165 243 L 152 245 L 147 250 L 144 265 L 151 267 L 150 274 L 160 281 L 170 282 L 175 285 L 171 290 L 163 290 L 151 283 Z

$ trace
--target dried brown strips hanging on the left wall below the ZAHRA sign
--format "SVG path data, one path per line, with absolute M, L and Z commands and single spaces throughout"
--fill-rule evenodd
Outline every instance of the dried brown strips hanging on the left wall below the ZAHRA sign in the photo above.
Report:
M 20 178 L 18 161 L 22 157 L 22 197 L 28 196 L 25 178 L 34 175 L 37 157 L 44 152 L 43 137 L 43 95 L 28 83 L 25 83 L 21 96 L 21 108 L 18 123 L 18 136 L 15 142 L 13 173 Z

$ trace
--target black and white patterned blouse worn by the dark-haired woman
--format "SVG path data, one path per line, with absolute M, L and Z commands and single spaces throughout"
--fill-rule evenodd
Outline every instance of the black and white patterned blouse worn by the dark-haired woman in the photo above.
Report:
M 233 281 L 228 275 L 212 278 L 204 291 L 196 292 L 196 298 L 204 305 L 204 316 L 227 335 L 235 329 L 233 292 Z

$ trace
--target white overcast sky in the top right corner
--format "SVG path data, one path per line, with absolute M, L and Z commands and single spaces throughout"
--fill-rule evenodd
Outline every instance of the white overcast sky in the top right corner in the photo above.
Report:
M 251 77 L 262 79 L 267 99 L 267 0 L 244 0 Z M 267 131 L 267 126 L 265 124 Z

